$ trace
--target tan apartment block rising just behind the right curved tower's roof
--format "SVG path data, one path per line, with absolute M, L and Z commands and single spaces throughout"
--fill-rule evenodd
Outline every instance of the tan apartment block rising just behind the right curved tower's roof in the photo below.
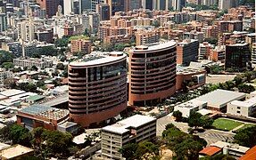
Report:
M 160 31 L 157 30 L 140 30 L 136 34 L 136 45 L 153 44 L 159 42 Z

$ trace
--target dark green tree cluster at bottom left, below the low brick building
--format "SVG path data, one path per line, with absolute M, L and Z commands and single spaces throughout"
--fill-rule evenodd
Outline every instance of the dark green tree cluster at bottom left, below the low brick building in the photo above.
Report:
M 74 155 L 78 148 L 72 144 L 72 135 L 68 132 L 48 131 L 41 127 L 31 132 L 17 124 L 7 124 L 0 130 L 0 140 L 34 148 L 35 156 L 45 159 L 49 156 L 65 158 Z

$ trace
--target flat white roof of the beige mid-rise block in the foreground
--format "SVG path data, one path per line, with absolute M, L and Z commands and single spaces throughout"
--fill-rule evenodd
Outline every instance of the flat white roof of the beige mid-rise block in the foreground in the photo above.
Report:
M 137 128 L 143 124 L 147 124 L 155 120 L 156 119 L 152 116 L 135 115 L 121 120 L 116 124 L 105 126 L 103 127 L 103 130 L 122 134 L 125 132 L 129 132 L 130 127 Z

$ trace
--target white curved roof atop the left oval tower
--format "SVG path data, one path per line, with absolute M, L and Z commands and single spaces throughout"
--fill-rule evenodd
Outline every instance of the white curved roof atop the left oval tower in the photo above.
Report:
M 118 54 L 119 56 L 111 56 L 111 54 Z M 92 52 L 87 54 L 83 59 L 70 62 L 72 67 L 84 67 L 101 65 L 108 62 L 122 60 L 126 58 L 126 54 L 123 52 Z

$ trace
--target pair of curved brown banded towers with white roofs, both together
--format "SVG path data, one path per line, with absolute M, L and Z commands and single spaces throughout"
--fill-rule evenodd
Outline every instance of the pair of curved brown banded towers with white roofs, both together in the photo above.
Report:
M 128 63 L 127 63 L 128 59 Z M 136 46 L 123 52 L 92 52 L 69 66 L 70 119 L 93 127 L 127 106 L 154 106 L 176 84 L 176 43 Z

